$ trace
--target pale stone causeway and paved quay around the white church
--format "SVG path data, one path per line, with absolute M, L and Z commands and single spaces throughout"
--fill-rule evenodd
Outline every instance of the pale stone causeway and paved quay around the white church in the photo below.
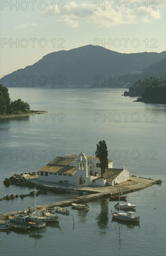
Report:
M 27 177 L 28 178 L 28 177 Z M 128 194 L 133 193 L 135 191 L 139 191 L 141 189 L 146 189 L 149 186 L 152 186 L 154 184 L 158 184 L 156 180 L 154 179 L 147 179 L 143 177 L 135 177 L 131 176 L 130 179 L 127 182 L 123 182 L 119 185 L 115 186 L 105 186 L 105 187 L 99 187 L 99 186 L 74 186 L 74 185 L 62 185 L 58 183 L 53 182 L 42 182 L 38 180 L 38 175 L 31 176 L 32 184 L 36 187 L 40 187 L 43 189 L 46 189 L 48 191 L 55 191 L 55 192 L 63 192 L 63 193 L 72 193 L 73 196 L 76 194 L 83 194 L 81 196 L 76 196 L 75 198 L 61 201 L 61 202 L 52 202 L 49 204 L 42 205 L 44 208 L 52 209 L 53 207 L 65 207 L 70 206 L 71 203 L 80 203 L 80 202 L 89 202 L 89 200 L 95 200 L 97 198 L 101 197 L 109 197 L 110 193 L 112 195 L 119 195 L 119 186 L 121 188 L 122 194 Z M 86 192 L 86 193 L 83 193 Z M 24 211 L 28 211 L 29 209 L 22 209 L 17 210 L 13 212 L 7 212 L 0 215 L 0 219 L 6 219 L 10 215 L 14 215 L 17 213 L 23 213 Z

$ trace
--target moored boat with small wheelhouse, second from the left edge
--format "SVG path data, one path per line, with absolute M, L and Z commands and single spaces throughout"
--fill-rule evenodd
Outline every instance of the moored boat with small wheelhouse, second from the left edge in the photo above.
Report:
M 45 222 L 36 221 L 36 220 L 34 221 L 29 215 L 15 214 L 14 216 L 9 216 L 8 218 L 10 222 L 25 224 L 35 229 L 45 227 Z

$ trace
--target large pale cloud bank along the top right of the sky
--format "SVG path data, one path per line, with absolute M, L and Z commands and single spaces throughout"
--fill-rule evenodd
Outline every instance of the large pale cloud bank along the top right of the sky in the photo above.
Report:
M 111 8 L 105 7 L 105 10 L 103 10 L 102 1 L 96 2 L 98 2 L 100 6 L 94 8 L 94 3 L 76 4 L 72 1 L 64 5 L 64 11 L 58 11 L 59 6 L 55 8 L 55 11 L 53 11 L 51 7 L 47 9 L 43 15 L 54 16 L 57 22 L 64 23 L 70 27 L 79 27 L 88 22 L 95 23 L 99 27 L 112 27 L 160 19 L 160 10 L 157 7 L 155 7 L 156 11 L 150 10 L 153 6 L 149 6 L 146 10 L 146 7 L 141 4 L 142 2 L 140 2 L 138 10 L 134 10 L 137 9 L 136 5 L 133 6 L 132 9 L 131 4 L 129 4 L 127 10 L 125 10 L 125 5 L 121 2 L 119 11 L 116 10 L 118 6 L 115 6 L 115 8 L 112 6 Z M 112 1 L 108 2 L 112 4 Z M 105 4 L 108 4 L 107 1 L 105 1 Z

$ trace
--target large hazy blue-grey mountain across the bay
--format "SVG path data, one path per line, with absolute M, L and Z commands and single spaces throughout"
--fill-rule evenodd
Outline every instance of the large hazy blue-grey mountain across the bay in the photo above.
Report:
M 32 66 L 6 75 L 0 83 L 6 87 L 79 87 L 97 82 L 104 86 L 105 79 L 139 74 L 142 69 L 161 61 L 165 56 L 165 51 L 121 54 L 104 47 L 87 45 L 47 54 Z

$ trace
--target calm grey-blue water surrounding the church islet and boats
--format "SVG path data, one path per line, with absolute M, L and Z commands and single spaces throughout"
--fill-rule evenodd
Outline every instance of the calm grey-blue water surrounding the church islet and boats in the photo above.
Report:
M 4 187 L 3 180 L 15 172 L 37 171 L 60 155 L 81 151 L 93 155 L 96 143 L 105 140 L 115 168 L 124 165 L 130 175 L 163 181 L 128 195 L 128 202 L 137 205 L 140 225 L 112 222 L 115 203 L 97 200 L 89 202 L 88 212 L 70 209 L 69 216 L 61 216 L 60 226 L 51 224 L 26 234 L 1 232 L 1 256 L 165 255 L 166 107 L 133 102 L 134 98 L 121 96 L 123 91 L 10 88 L 12 100 L 21 98 L 31 109 L 48 113 L 1 123 L 0 197 L 29 192 Z M 39 195 L 37 202 L 58 202 L 72 196 Z M 33 198 L 18 198 L 0 202 L 0 211 L 32 205 Z

